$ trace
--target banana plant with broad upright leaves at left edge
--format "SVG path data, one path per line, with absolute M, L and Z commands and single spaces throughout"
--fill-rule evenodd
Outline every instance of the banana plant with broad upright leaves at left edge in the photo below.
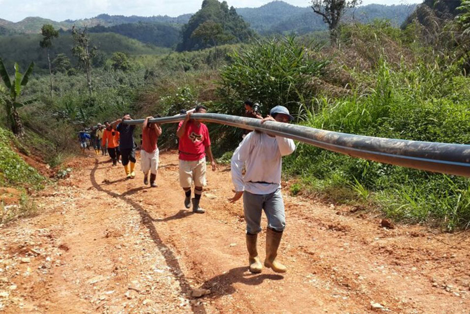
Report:
M 25 131 L 23 129 L 23 124 L 21 123 L 17 109 L 34 101 L 31 99 L 25 102 L 19 102 L 18 98 L 21 95 L 23 86 L 28 83 L 33 67 L 34 63 L 31 62 L 25 74 L 21 74 L 18 63 L 15 63 L 15 77 L 12 81 L 10 81 L 8 71 L 3 64 L 3 61 L 0 59 L 0 76 L 3 79 L 3 83 L 5 83 L 6 89 L 8 90 L 6 97 L 3 99 L 3 103 L 5 105 L 5 111 L 11 126 L 11 130 L 18 137 L 23 137 L 25 135 Z

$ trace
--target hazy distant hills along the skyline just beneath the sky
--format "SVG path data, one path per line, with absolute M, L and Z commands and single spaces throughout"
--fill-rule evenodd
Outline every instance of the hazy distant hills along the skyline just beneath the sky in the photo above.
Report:
M 406 17 L 415 9 L 416 5 L 380 5 L 369 4 L 350 10 L 346 18 L 359 20 L 361 22 L 370 22 L 376 18 L 389 19 L 396 25 L 401 25 Z M 254 31 L 260 34 L 297 32 L 306 33 L 310 31 L 324 30 L 326 25 L 320 16 L 313 13 L 310 7 L 298 7 L 288 4 L 284 1 L 272 1 L 258 8 L 238 8 L 236 12 L 250 24 Z M 0 35 L 8 35 L 13 33 L 40 33 L 44 24 L 52 24 L 56 29 L 68 30 L 73 25 L 78 27 L 87 26 L 89 28 L 114 27 L 117 25 L 130 25 L 133 23 L 166 23 L 173 26 L 183 26 L 189 22 L 193 14 L 184 14 L 178 17 L 169 16 L 123 16 L 100 14 L 96 17 L 81 20 L 65 20 L 55 22 L 40 17 L 28 17 L 20 22 L 13 23 L 0 19 Z M 161 28 L 160 28 L 161 29 Z M 107 29 L 106 31 L 113 31 Z M 150 30 L 155 31 L 155 30 Z M 113 31 L 114 32 L 114 31 Z M 118 33 L 123 34 L 123 27 L 119 28 Z M 170 33 L 170 35 L 172 32 Z M 136 36 L 131 36 L 137 38 Z M 144 42 L 149 41 L 148 39 Z

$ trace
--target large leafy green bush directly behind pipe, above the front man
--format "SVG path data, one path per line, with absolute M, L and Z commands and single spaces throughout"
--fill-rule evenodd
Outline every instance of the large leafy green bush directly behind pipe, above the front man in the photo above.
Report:
M 321 75 L 328 63 L 313 57 L 318 48 L 289 36 L 258 40 L 234 51 L 220 73 L 219 93 L 228 105 L 219 106 L 219 112 L 238 115 L 242 107 L 233 104 L 250 98 L 264 107 L 263 113 L 284 105 L 296 114 L 313 96 L 308 88 L 312 77 Z

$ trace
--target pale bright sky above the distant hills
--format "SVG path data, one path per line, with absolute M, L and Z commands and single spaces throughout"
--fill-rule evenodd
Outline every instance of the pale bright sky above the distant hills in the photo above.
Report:
M 309 6 L 308 0 L 284 0 L 296 6 Z M 259 7 L 271 0 L 227 0 L 229 6 Z M 420 0 L 363 0 L 363 4 L 410 4 Z M 169 15 L 194 13 L 202 0 L 0 0 L 0 19 L 18 22 L 28 16 L 54 21 L 83 19 L 101 13 L 110 15 Z

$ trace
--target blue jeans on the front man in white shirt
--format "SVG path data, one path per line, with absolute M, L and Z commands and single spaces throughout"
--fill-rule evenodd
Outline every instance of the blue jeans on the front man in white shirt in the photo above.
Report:
M 261 231 L 261 212 L 268 219 L 268 228 L 282 231 L 285 228 L 284 201 L 281 189 L 269 194 L 243 192 L 243 212 L 247 222 L 247 232 L 257 234 Z

